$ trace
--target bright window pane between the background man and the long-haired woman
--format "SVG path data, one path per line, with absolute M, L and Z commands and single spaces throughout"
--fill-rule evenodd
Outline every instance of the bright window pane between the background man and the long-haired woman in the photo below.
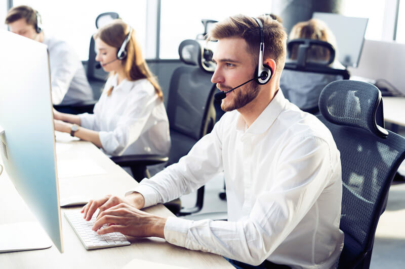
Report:
M 66 40 L 74 47 L 80 60 L 87 60 L 90 38 L 96 31 L 96 18 L 104 12 L 116 12 L 129 23 L 145 50 L 146 1 L 14 0 L 13 6 L 28 5 L 37 10 L 41 14 L 45 33 Z

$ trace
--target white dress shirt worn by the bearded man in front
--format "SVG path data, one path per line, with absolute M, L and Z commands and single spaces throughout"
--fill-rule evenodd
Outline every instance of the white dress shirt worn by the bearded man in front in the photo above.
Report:
M 237 111 L 226 113 L 178 164 L 135 191 L 147 207 L 194 191 L 222 170 L 228 221 L 169 217 L 168 242 L 254 265 L 334 265 L 343 248 L 340 153 L 316 117 L 278 90 L 249 128 Z

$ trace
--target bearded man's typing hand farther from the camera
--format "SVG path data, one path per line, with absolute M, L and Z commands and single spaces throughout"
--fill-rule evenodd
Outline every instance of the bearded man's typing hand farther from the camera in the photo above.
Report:
M 125 198 L 120 198 L 118 196 L 112 196 L 112 195 L 107 195 L 101 199 L 98 200 L 90 200 L 85 206 L 82 208 L 82 213 L 84 213 L 84 219 L 86 221 L 90 221 L 92 218 L 94 212 L 97 210 L 97 208 L 100 208 L 99 214 L 117 204 L 120 203 L 125 203 L 130 206 L 133 206 L 137 209 L 141 209 L 143 205 L 145 204 L 145 199 L 143 198 L 142 194 L 139 192 L 134 192 L 128 195 Z

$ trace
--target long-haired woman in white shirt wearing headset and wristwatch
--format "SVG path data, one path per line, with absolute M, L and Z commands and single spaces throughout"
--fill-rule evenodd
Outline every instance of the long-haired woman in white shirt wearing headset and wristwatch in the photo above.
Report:
M 168 154 L 169 121 L 163 94 L 142 57 L 134 30 L 121 20 L 100 28 L 97 56 L 109 77 L 94 114 L 54 110 L 55 130 L 91 141 L 106 154 Z

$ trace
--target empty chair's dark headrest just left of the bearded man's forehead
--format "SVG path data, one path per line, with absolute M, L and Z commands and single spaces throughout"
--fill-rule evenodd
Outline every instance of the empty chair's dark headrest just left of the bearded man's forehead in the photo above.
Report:
M 203 48 L 196 40 L 183 40 L 179 45 L 179 56 L 180 60 L 187 65 L 198 66 L 206 72 L 215 71 L 212 50 Z

